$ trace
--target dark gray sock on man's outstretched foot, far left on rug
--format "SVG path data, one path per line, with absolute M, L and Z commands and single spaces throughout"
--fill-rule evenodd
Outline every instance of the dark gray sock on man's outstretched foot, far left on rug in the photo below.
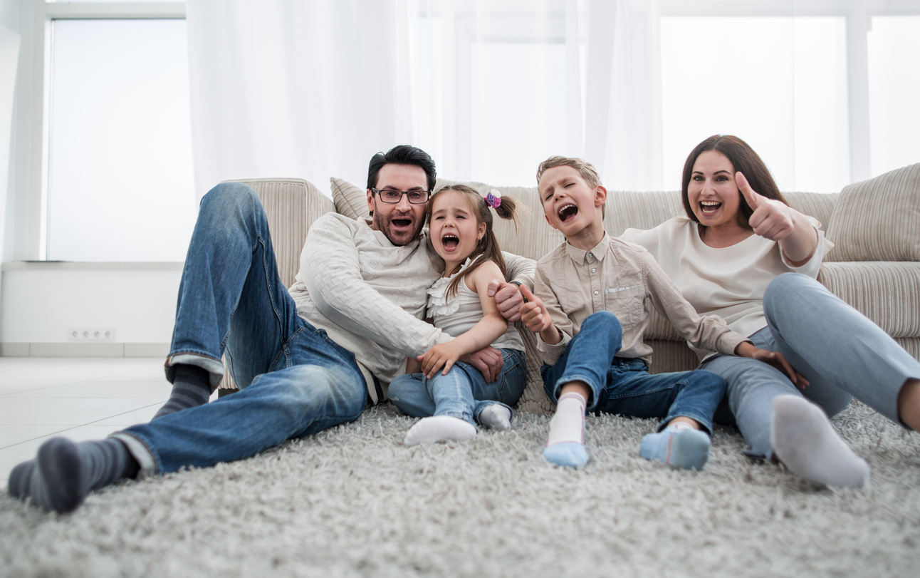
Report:
M 54 437 L 39 448 L 35 459 L 9 474 L 9 494 L 61 514 L 73 512 L 93 490 L 140 471 L 127 446 L 116 439 L 74 443 Z

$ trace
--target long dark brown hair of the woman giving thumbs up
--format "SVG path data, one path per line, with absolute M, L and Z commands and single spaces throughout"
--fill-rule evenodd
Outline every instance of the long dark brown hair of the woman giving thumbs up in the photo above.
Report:
M 690 186 L 690 179 L 693 177 L 693 166 L 696 164 L 696 158 L 707 151 L 716 151 L 727 156 L 735 172 L 741 172 L 757 194 L 765 196 L 767 199 L 776 199 L 776 201 L 788 204 L 786 199 L 783 198 L 783 194 L 779 192 L 779 187 L 776 186 L 776 181 L 770 175 L 770 170 L 766 168 L 764 161 L 753 151 L 750 145 L 737 136 L 713 134 L 699 145 L 696 145 L 696 148 L 693 149 L 690 156 L 687 156 L 687 160 L 684 163 L 681 200 L 684 202 L 684 211 L 686 211 L 691 221 L 699 223 L 699 219 L 696 218 L 696 214 L 690 206 L 687 189 Z M 746 222 L 753 214 L 753 209 L 744 199 L 742 191 L 739 190 L 738 194 L 741 197 L 739 208 Z

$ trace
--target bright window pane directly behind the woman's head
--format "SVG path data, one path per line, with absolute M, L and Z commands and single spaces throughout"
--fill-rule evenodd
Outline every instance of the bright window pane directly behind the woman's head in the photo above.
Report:
M 716 133 L 741 137 L 782 191 L 849 181 L 843 17 L 662 17 L 665 189 Z

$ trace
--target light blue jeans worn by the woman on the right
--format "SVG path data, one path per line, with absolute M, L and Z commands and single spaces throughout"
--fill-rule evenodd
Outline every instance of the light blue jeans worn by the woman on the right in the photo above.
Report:
M 920 379 L 920 362 L 856 309 L 821 283 L 783 273 L 764 294 L 767 327 L 751 336 L 754 345 L 780 352 L 811 385 L 800 390 L 771 365 L 746 357 L 718 355 L 700 367 L 728 383 L 728 411 L 717 422 L 737 425 L 756 457 L 773 457 L 770 420 L 773 399 L 799 395 L 834 417 L 854 397 L 892 422 L 898 393 L 908 378 Z

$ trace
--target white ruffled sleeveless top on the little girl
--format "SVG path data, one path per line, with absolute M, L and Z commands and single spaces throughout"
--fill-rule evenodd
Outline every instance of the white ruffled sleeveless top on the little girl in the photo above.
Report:
M 470 265 L 474 262 L 476 259 L 467 259 L 457 272 L 450 277 L 438 279 L 431 284 L 428 290 L 428 317 L 431 318 L 434 327 L 453 337 L 472 329 L 482 318 L 482 303 L 479 301 L 479 295 L 466 286 L 466 280 L 457 284 L 454 295 L 447 295 L 447 287 L 458 275 L 461 277 L 466 275 Z M 521 334 L 511 324 L 508 325 L 508 330 L 504 335 L 492 342 L 492 347 L 524 351 Z

